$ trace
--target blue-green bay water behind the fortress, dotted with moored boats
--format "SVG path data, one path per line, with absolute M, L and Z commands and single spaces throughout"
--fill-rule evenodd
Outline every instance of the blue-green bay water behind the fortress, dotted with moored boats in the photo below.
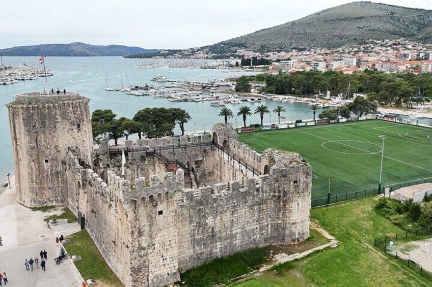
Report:
M 17 66 L 23 63 L 24 60 L 29 65 L 40 65 L 39 57 L 3 57 L 3 62 L 7 65 Z M 142 85 L 158 84 L 163 86 L 165 83 L 150 82 L 149 80 L 157 75 L 165 75 L 169 79 L 177 80 L 200 80 L 207 81 L 213 79 L 224 79 L 230 76 L 239 76 L 249 74 L 248 72 L 229 72 L 223 73 L 222 70 L 207 70 L 207 69 L 187 69 L 177 68 L 169 69 L 167 67 L 155 69 L 136 69 L 133 68 L 137 63 L 142 63 L 141 60 L 125 59 L 122 57 L 46 57 L 47 67 L 54 73 L 54 76 L 48 77 L 49 89 L 76 91 L 91 99 L 90 111 L 95 109 L 112 109 L 118 117 L 133 115 L 140 109 L 145 107 L 179 107 L 190 113 L 192 119 L 185 124 L 186 131 L 203 131 L 208 130 L 214 123 L 221 122 L 223 119 L 218 116 L 220 108 L 210 106 L 209 102 L 170 102 L 166 99 L 153 99 L 151 96 L 136 97 L 134 95 L 125 94 L 123 92 L 105 91 L 106 73 L 108 74 L 109 86 L 118 87 L 121 83 L 121 77 L 127 84 L 126 74 L 130 84 Z M 164 60 L 149 60 L 150 62 L 161 62 Z M 190 60 L 187 60 L 190 61 Z M 169 73 L 171 71 L 171 73 Z M 69 82 L 72 80 L 72 82 Z M 166 85 L 169 85 L 167 83 Z M 5 105 L 13 100 L 13 96 L 22 92 L 40 91 L 45 87 L 45 80 L 40 78 L 35 81 L 19 81 L 16 84 L 0 85 L 0 183 L 6 182 L 7 173 L 13 174 L 13 155 L 11 149 L 9 120 L 7 108 Z M 273 110 L 277 105 L 282 105 L 286 108 L 287 113 L 284 114 L 287 120 L 312 118 L 312 112 L 308 109 L 307 104 L 299 103 L 280 103 L 280 102 L 262 102 L 262 103 L 244 103 L 242 105 L 251 106 L 251 110 L 255 110 L 255 106 L 265 104 L 269 110 Z M 234 114 L 239 105 L 226 105 Z M 272 122 L 276 122 L 277 115 L 272 115 Z M 269 122 L 269 115 L 265 115 L 264 122 Z M 230 119 L 232 124 L 236 124 L 236 118 Z M 247 124 L 259 122 L 259 115 L 248 117 Z M 238 125 L 241 125 L 241 118 L 238 118 Z M 178 132 L 178 128 L 177 128 Z M 0 187 L 1 189 L 1 187 Z

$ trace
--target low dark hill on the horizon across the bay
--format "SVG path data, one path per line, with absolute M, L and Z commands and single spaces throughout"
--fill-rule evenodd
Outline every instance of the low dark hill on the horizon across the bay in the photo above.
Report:
M 4 56 L 124 56 L 135 53 L 154 53 L 158 49 L 143 49 L 120 45 L 98 46 L 85 43 L 44 44 L 34 46 L 20 46 L 0 49 Z

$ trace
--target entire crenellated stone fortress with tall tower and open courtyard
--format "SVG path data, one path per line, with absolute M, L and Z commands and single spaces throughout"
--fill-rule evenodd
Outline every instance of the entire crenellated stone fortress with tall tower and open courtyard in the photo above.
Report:
M 8 105 L 16 200 L 70 208 L 125 286 L 164 286 L 214 258 L 309 236 L 312 169 L 299 154 L 257 153 L 225 124 L 94 146 L 88 103 L 35 92 Z

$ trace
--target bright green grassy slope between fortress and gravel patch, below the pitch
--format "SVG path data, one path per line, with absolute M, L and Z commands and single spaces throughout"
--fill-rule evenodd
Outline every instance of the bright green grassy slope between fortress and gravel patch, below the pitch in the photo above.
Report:
M 375 198 L 313 209 L 311 216 L 340 246 L 265 272 L 237 286 L 430 286 L 432 282 L 373 248 L 374 237 L 401 232 L 373 211 Z

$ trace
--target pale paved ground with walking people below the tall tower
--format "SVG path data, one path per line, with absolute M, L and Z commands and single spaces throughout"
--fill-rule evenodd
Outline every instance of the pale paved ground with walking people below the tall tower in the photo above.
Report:
M 69 260 L 57 265 L 54 258 L 60 247 L 55 238 L 79 230 L 78 224 L 65 224 L 49 229 L 43 218 L 50 213 L 32 211 L 15 203 L 14 180 L 12 188 L 0 195 L 0 272 L 8 275 L 8 286 L 19 287 L 80 287 L 82 279 Z M 41 237 L 42 236 L 42 237 Z M 40 250 L 48 252 L 46 271 L 34 266 L 26 271 L 25 259 L 37 256 Z M 40 261 L 40 258 L 39 258 Z

